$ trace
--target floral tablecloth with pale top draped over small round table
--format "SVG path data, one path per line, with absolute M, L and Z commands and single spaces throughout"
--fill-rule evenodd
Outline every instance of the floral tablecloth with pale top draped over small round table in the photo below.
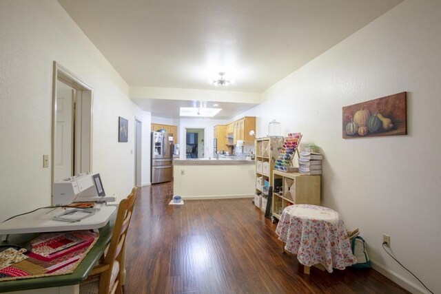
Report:
M 283 210 L 278 222 L 279 240 L 285 250 L 297 255 L 305 266 L 322 264 L 332 269 L 345 269 L 357 262 L 347 238 L 345 223 L 338 212 L 316 205 L 296 204 Z

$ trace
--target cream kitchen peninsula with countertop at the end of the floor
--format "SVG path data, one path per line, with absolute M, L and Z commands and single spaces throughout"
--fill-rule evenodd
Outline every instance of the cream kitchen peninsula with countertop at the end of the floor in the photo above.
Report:
M 173 165 L 173 193 L 184 200 L 254 197 L 254 160 L 187 158 Z

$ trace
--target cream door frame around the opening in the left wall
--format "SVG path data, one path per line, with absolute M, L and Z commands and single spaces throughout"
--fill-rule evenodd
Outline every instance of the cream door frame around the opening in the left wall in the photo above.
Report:
M 68 69 L 54 61 L 52 77 L 52 145 L 51 145 L 51 195 L 54 183 L 54 155 L 57 134 L 57 81 L 61 81 L 76 90 L 76 100 L 81 101 L 76 105 L 79 117 L 75 118 L 76 134 L 74 140 L 78 143 L 74 166 L 76 171 L 92 171 L 92 134 L 93 134 L 93 88 Z M 75 114 L 76 116 L 76 114 Z M 78 132 L 79 130 L 79 132 Z M 78 157 L 78 158 L 77 158 Z M 73 163 L 73 162 L 72 162 Z

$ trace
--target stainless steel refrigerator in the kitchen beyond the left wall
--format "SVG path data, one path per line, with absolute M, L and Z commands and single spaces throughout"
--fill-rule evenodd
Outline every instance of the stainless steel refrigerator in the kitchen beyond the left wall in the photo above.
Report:
M 152 132 L 152 172 L 150 182 L 169 182 L 173 178 L 173 145 L 166 132 Z

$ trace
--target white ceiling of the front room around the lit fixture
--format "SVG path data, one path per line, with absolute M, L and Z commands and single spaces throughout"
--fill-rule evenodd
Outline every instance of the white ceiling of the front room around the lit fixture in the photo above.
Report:
M 263 92 L 402 0 L 59 0 L 130 86 Z M 156 114 L 155 114 L 156 115 Z

